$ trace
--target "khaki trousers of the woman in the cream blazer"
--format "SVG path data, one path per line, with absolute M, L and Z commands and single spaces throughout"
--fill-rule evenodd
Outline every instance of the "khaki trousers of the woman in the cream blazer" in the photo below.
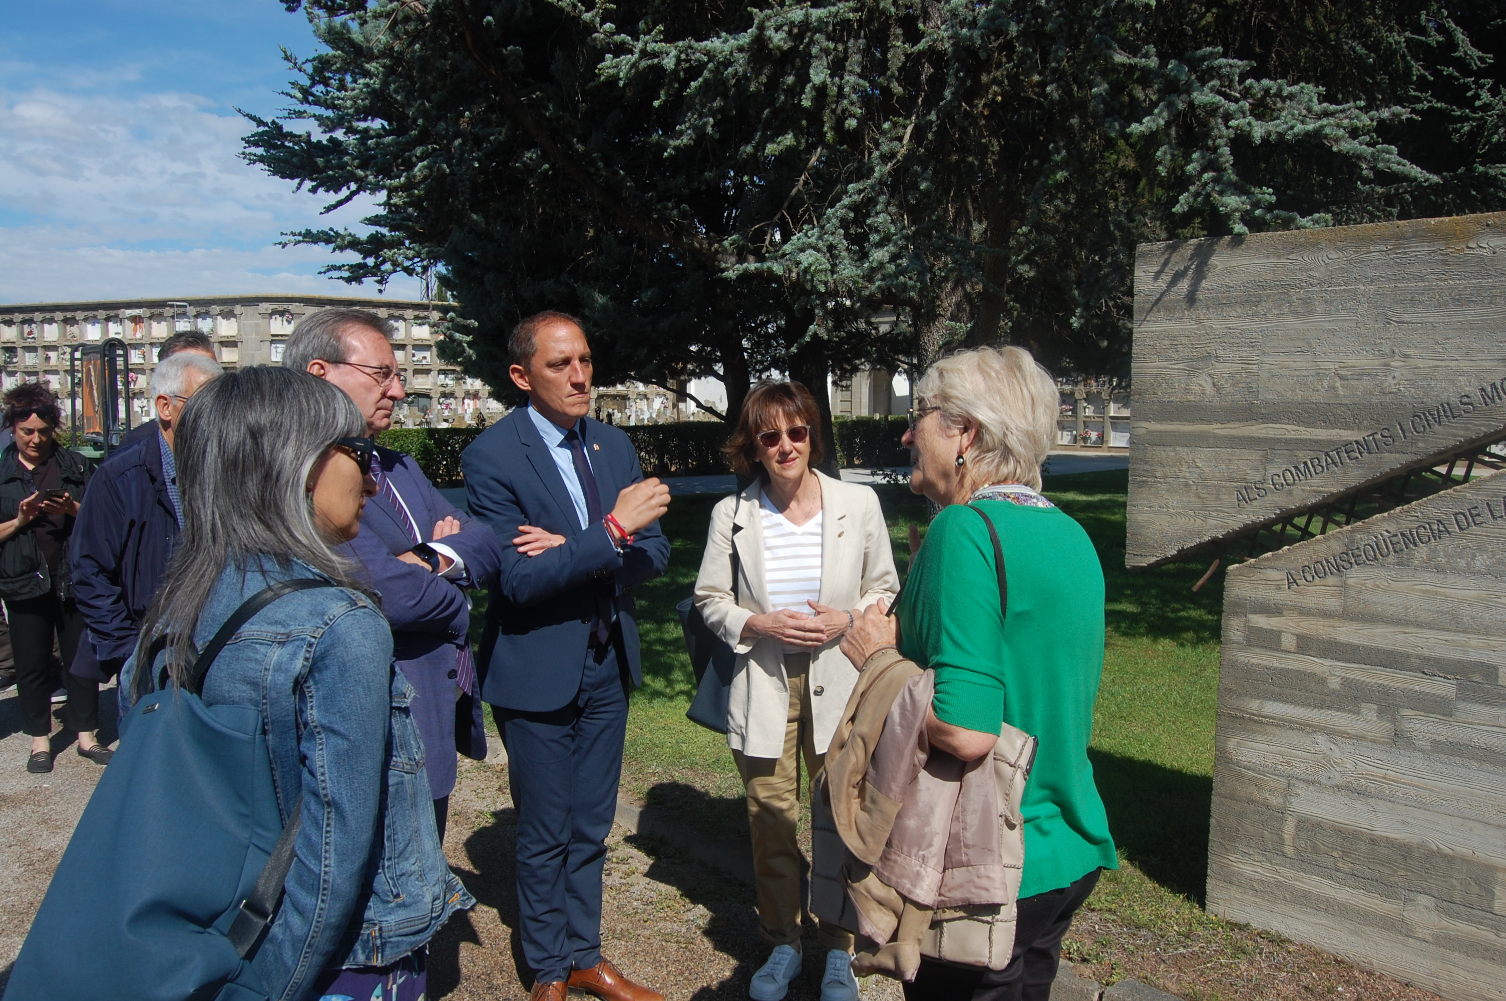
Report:
M 789 679 L 789 715 L 785 723 L 785 751 L 779 759 L 747 757 L 732 751 L 748 790 L 748 828 L 753 834 L 753 876 L 758 881 L 758 917 L 764 936 L 776 945 L 800 947 L 800 870 L 804 860 L 795 831 L 800 823 L 800 757 L 806 775 L 815 780 L 825 765 L 816 754 L 815 727 L 810 723 L 810 655 L 785 653 Z M 851 951 L 852 935 L 836 926 L 821 924 L 821 944 Z

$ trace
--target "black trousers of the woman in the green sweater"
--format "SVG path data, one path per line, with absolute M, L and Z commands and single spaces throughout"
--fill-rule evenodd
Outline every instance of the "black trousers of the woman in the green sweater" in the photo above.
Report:
M 916 981 L 905 984 L 905 1001 L 1048 1001 L 1062 962 L 1062 936 L 1093 893 L 1101 872 L 1095 869 L 1071 887 L 1023 899 L 1015 921 L 1015 953 L 1003 969 L 922 959 Z

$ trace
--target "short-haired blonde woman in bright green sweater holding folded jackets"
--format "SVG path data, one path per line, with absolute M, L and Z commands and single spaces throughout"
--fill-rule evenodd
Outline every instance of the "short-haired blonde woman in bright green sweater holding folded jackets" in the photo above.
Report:
M 842 649 L 861 664 L 898 643 L 935 670 L 932 747 L 979 759 L 1008 721 L 1035 735 L 1039 750 L 1024 793 L 1026 863 L 1009 966 L 922 960 L 905 996 L 1045 1001 L 1072 914 L 1099 870 L 1117 864 L 1087 760 L 1104 664 L 1104 574 L 1083 527 L 1039 494 L 1059 400 L 1030 352 L 964 351 L 931 366 L 916 390 L 905 435 L 910 489 L 944 510 L 916 555 L 898 614 L 870 610 Z M 979 512 L 1003 546 L 1008 619 Z

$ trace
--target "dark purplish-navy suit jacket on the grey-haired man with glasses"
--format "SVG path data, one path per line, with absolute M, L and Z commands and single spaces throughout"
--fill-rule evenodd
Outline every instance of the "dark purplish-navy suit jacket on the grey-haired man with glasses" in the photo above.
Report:
M 455 518 L 461 530 L 441 539 L 441 545 L 465 560 L 471 587 L 489 584 L 501 555 L 491 528 L 444 500 L 411 456 L 392 449 L 376 449 L 376 456 L 423 540 L 434 542 L 434 522 Z M 486 757 L 480 700 L 462 695 L 455 686 L 456 644 L 470 631 L 465 587 L 398 558 L 413 548 L 413 540 L 380 497 L 366 498 L 361 530 L 348 546 L 381 595 L 383 614 L 392 625 L 393 658 L 414 688 L 410 712 L 423 735 L 429 790 L 435 799 L 447 796 L 455 789 L 455 751 Z

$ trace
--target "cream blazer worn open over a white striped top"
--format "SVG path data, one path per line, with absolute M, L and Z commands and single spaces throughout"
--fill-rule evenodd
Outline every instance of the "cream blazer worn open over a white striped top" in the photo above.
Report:
M 821 604 L 843 611 L 866 608 L 899 592 L 895 554 L 884 527 L 878 494 L 858 483 L 843 483 L 816 473 L 821 480 Z M 742 626 L 756 614 L 773 611 L 764 583 L 764 518 L 759 513 L 762 479 L 711 510 L 706 554 L 696 577 L 696 607 L 706 625 L 738 655 L 727 701 L 727 747 L 748 757 L 780 757 L 789 717 L 789 680 L 779 640 L 742 641 Z M 732 596 L 732 546 L 741 570 Z M 812 650 L 810 704 L 816 753 L 842 720 L 857 668 L 837 649 L 840 638 Z

